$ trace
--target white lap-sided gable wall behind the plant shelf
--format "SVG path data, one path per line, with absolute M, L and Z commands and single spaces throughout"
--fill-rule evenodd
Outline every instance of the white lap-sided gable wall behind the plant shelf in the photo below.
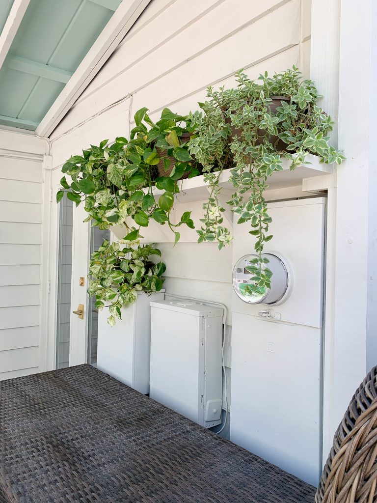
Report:
M 295 64 L 308 77 L 310 12 L 310 0 L 153 0 L 51 135 L 54 167 L 89 143 L 127 136 L 141 107 L 153 118 L 164 107 L 196 109 L 208 85 L 233 86 L 240 68 L 257 78 Z M 160 248 L 168 292 L 217 300 L 230 311 L 231 249 Z

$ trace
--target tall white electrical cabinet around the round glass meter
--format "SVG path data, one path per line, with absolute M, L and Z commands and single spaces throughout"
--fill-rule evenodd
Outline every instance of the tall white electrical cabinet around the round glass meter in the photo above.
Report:
M 325 204 L 325 198 L 268 204 L 273 239 L 264 252 L 291 268 L 290 294 L 275 304 L 232 296 L 230 438 L 313 485 L 322 468 Z M 247 224 L 235 225 L 236 281 L 245 279 L 242 260 L 255 253 L 248 231 Z

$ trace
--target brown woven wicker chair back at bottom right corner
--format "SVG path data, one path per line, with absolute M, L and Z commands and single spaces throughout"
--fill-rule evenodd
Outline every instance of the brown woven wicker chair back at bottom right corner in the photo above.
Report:
M 377 501 L 377 367 L 352 397 L 323 469 L 316 503 Z

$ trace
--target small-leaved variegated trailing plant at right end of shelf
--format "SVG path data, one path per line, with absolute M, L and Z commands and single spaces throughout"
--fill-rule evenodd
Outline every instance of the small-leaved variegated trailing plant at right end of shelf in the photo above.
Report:
M 253 271 L 255 291 L 271 286 L 271 274 L 262 257 L 264 243 L 272 238 L 263 197 L 268 177 L 283 169 L 282 159 L 289 159 L 294 170 L 305 163 L 309 153 L 326 163 L 340 164 L 345 158 L 329 144 L 333 122 L 317 106 L 320 97 L 311 80 L 303 80 L 296 67 L 272 77 L 265 72 L 258 80 L 250 80 L 239 71 L 236 89 L 208 88 L 209 101 L 199 104 L 201 112 L 189 116 L 196 131 L 189 151 L 203 164 L 210 185 L 203 225 L 197 231 L 199 242 L 216 240 L 222 248 L 232 239 L 223 225 L 225 209 L 220 203 L 219 186 L 222 171 L 231 167 L 230 183 L 235 192 L 227 204 L 238 223 L 250 223 L 250 234 L 256 237 L 259 258 Z M 274 102 L 275 96 L 281 99 Z

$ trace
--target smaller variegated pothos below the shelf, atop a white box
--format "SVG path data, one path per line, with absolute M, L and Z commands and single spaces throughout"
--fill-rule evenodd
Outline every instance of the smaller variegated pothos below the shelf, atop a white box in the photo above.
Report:
M 134 231 L 136 232 L 136 231 Z M 132 304 L 137 292 L 158 292 L 163 285 L 163 262 L 153 264 L 151 255 L 161 257 L 161 252 L 150 245 L 119 249 L 119 243 L 105 239 L 98 251 L 91 255 L 88 294 L 96 296 L 96 308 L 109 307 L 108 323 L 114 325 L 122 319 L 122 306 Z

